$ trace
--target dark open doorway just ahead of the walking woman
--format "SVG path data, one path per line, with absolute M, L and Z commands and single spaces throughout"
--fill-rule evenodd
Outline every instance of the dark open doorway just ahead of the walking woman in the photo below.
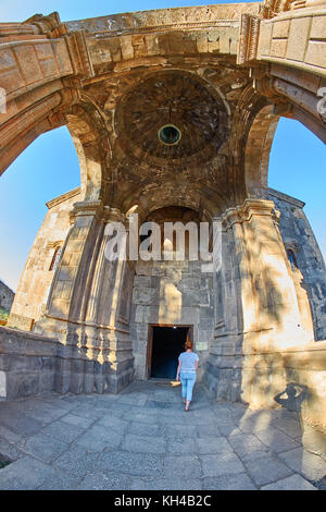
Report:
M 187 334 L 192 340 L 190 326 L 150 326 L 149 377 L 175 379 L 178 356 L 185 350 Z

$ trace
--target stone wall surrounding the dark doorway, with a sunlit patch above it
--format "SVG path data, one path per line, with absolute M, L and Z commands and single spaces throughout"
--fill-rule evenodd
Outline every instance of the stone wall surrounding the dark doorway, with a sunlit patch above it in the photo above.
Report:
M 205 371 L 213 338 L 213 276 L 200 261 L 138 261 L 131 306 L 135 376 L 147 379 L 148 327 L 151 324 L 193 326 L 199 380 Z

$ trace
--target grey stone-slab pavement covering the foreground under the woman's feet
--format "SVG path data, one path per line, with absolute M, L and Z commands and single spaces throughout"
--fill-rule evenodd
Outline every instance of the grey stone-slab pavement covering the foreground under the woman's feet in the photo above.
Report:
M 211 401 L 201 385 L 185 413 L 180 388 L 155 381 L 0 402 L 0 454 L 13 461 L 0 489 L 315 490 L 326 474 L 325 436 L 297 413 Z

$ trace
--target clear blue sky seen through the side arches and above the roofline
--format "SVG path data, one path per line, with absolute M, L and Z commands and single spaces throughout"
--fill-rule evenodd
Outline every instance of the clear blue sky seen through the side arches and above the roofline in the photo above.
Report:
M 0 0 L 0 13 L 1 21 L 23 21 L 37 12 L 48 14 L 55 10 L 64 21 L 200 4 L 206 2 Z M 13 290 L 47 214 L 46 202 L 79 183 L 78 159 L 66 127 L 38 137 L 0 178 L 0 279 Z M 268 184 L 306 203 L 304 211 L 325 258 L 326 146 L 297 121 L 281 119 L 278 124 L 271 153 Z

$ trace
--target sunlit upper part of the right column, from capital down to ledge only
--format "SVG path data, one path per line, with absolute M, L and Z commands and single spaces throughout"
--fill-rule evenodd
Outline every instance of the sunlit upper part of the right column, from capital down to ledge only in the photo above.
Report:
M 271 351 L 310 341 L 301 325 L 274 203 L 246 199 L 224 218 L 234 233 L 240 271 L 243 349 Z

